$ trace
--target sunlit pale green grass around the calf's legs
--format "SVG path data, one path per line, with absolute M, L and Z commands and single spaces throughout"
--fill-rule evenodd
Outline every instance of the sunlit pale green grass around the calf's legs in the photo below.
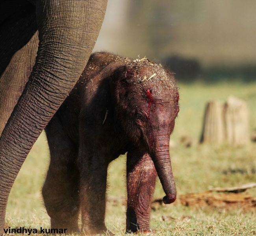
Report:
M 195 144 L 185 147 L 182 136 L 197 141 L 202 131 L 206 102 L 227 100 L 229 95 L 246 100 L 250 109 L 250 132 L 256 128 L 256 83 L 217 83 L 206 85 L 179 84 L 180 113 L 171 140 L 171 160 L 178 196 L 206 191 L 212 187 L 239 186 L 256 182 L 256 143 L 244 147 Z M 125 156 L 111 163 L 108 175 L 108 195 L 125 197 Z M 41 197 L 41 187 L 49 162 L 44 133 L 39 137 L 15 181 L 9 197 L 6 222 L 12 227 L 49 228 L 50 220 Z M 232 171 L 232 170 L 243 171 Z M 256 189 L 247 190 L 256 197 Z M 163 197 L 158 181 L 154 197 Z M 125 206 L 109 202 L 106 225 L 116 235 L 125 235 Z M 168 219 L 172 217 L 174 219 Z M 165 220 L 163 220 L 163 218 Z M 256 211 L 242 208 L 227 211 L 222 208 L 193 208 L 180 204 L 161 206 L 152 211 L 151 227 L 156 235 L 256 235 Z

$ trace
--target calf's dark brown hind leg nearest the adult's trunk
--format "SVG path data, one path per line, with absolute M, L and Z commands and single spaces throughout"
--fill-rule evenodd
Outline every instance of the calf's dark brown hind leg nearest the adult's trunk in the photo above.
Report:
M 51 228 L 80 232 L 76 147 L 65 135 L 58 119 L 50 121 L 45 131 L 50 148 L 50 166 L 43 186 L 43 198 L 51 218 Z

